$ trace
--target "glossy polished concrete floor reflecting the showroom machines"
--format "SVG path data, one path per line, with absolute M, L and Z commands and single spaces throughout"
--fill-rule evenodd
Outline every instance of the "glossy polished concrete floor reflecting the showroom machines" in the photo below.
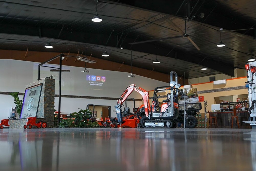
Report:
M 0 170 L 256 171 L 256 131 L 1 129 Z

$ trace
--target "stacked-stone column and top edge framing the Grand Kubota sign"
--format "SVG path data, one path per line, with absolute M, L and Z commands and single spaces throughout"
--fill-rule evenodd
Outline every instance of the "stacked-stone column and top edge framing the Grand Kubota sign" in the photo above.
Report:
M 44 120 L 47 127 L 53 127 L 54 124 L 54 95 L 55 79 L 44 78 L 34 83 L 26 85 L 26 88 L 43 83 L 41 97 L 39 100 L 37 120 Z M 43 119 L 42 119 L 43 118 Z

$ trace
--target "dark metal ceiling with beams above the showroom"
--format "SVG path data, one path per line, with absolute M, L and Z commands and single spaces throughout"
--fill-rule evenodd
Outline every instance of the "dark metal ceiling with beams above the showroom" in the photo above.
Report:
M 185 72 L 186 78 L 234 76 L 233 70 L 244 69 L 255 51 L 255 7 L 252 0 L 102 0 L 97 12 L 103 21 L 95 23 L 96 0 L 6 0 L 0 1 L 0 49 L 79 51 L 127 65 L 132 51 L 135 67 L 180 76 Z M 181 36 L 184 18 L 187 34 L 200 51 L 183 37 L 129 44 Z M 219 28 L 224 28 L 225 47 L 216 46 Z M 44 48 L 48 39 L 54 48 Z M 105 47 L 110 57 L 101 56 Z M 153 64 L 156 57 L 160 64 Z M 203 66 L 208 70 L 202 71 Z

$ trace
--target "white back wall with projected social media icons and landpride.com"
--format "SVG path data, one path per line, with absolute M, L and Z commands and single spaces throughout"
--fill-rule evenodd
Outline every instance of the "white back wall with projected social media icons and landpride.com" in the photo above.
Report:
M 82 61 L 80 61 L 82 62 Z M 0 60 L 0 91 L 2 92 L 25 92 L 25 86 L 29 83 L 37 81 L 38 64 L 36 62 L 27 62 L 19 60 Z M 97 65 L 97 63 L 95 63 Z M 58 65 L 46 64 L 46 66 L 58 67 Z M 41 67 L 40 78 L 54 75 L 55 94 L 59 92 L 59 73 L 50 72 L 50 68 Z M 158 86 L 166 86 L 168 83 L 149 79 L 136 75 L 135 78 L 128 78 L 130 73 L 106 71 L 87 68 L 90 73 L 82 73 L 81 67 L 63 66 L 62 69 L 69 69 L 70 72 L 62 73 L 61 94 L 62 95 L 80 95 L 95 97 L 114 97 L 119 98 L 123 91 L 130 85 L 137 86 L 149 91 Z M 86 81 L 86 75 L 105 76 L 105 82 L 102 86 L 91 86 Z M 23 97 L 20 96 L 22 99 Z M 133 92 L 129 98 L 142 99 L 137 92 Z M 111 106 L 111 116 L 115 116 L 114 106 L 116 100 L 98 100 L 98 99 L 82 99 L 82 98 L 61 98 L 61 112 L 69 114 L 78 111 L 78 108 L 85 109 L 87 104 Z M 136 102 L 136 107 L 142 102 Z M 10 108 L 15 106 L 11 95 L 0 95 L 0 119 L 10 117 Z M 128 102 L 128 107 L 133 107 L 133 102 Z M 55 109 L 58 109 L 58 98 L 55 98 Z

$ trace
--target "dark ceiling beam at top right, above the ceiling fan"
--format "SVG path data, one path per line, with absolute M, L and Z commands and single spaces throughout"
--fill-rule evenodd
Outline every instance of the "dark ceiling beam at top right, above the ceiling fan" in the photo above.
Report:
M 188 3 L 183 3 L 183 0 L 157 0 L 157 1 L 148 1 L 148 0 L 103 0 L 101 2 L 113 3 L 116 5 L 122 5 L 130 8 L 140 9 L 143 11 L 155 12 L 158 14 L 167 15 L 170 17 L 183 19 L 184 17 L 188 17 L 188 4 L 189 1 L 185 1 Z M 255 23 L 253 20 L 248 18 L 246 21 L 239 21 L 238 18 L 229 18 L 225 15 L 216 12 L 214 7 L 218 6 L 218 3 L 214 0 L 207 1 L 207 8 L 204 6 L 206 2 L 203 0 L 200 2 L 201 4 L 193 4 L 194 6 L 190 6 L 190 10 L 193 8 L 197 8 L 193 12 L 195 14 L 191 14 L 189 17 L 192 18 L 193 15 L 197 15 L 196 18 L 193 18 L 192 21 L 196 23 L 201 23 L 203 25 L 213 26 L 213 28 L 224 28 L 226 30 L 236 30 L 236 29 L 247 29 L 251 28 Z M 212 9 L 209 8 L 212 7 Z M 179 11 L 178 11 L 179 10 Z M 177 13 L 178 11 L 178 13 Z M 177 14 L 176 14 L 177 13 Z M 199 13 L 205 13 L 204 18 L 198 17 Z M 244 34 L 245 32 L 237 32 L 239 34 Z M 247 32 L 246 35 L 249 35 L 254 38 L 254 32 Z

